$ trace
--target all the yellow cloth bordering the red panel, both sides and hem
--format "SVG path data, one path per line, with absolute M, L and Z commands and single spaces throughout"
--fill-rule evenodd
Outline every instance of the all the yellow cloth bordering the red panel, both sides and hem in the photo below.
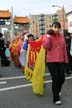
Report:
M 28 45 L 25 76 L 26 79 L 32 81 L 33 92 L 38 95 L 44 94 L 44 76 L 45 76 L 45 49 L 41 46 L 41 49 L 37 55 L 34 70 L 28 67 L 30 45 Z

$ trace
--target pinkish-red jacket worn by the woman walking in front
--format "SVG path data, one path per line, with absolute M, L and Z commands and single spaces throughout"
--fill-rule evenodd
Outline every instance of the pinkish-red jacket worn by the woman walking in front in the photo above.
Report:
M 60 33 L 56 36 L 45 34 L 43 47 L 47 50 L 46 62 L 68 63 L 65 39 Z

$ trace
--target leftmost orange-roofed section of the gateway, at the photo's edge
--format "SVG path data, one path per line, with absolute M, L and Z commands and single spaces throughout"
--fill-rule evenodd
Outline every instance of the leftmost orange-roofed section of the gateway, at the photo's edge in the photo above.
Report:
M 0 31 L 5 35 L 5 40 L 10 39 L 10 20 L 11 12 L 9 10 L 0 10 Z

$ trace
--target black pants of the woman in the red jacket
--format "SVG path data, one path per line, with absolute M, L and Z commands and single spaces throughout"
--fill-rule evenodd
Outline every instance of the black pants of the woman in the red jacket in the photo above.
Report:
M 60 100 L 59 92 L 65 80 L 64 64 L 63 63 L 47 63 L 52 78 L 53 101 Z

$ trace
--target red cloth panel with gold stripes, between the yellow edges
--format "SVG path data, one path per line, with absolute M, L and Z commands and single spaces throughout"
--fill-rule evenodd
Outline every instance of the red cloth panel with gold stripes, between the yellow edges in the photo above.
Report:
M 38 39 L 37 41 L 29 41 L 28 43 L 30 44 L 28 66 L 33 69 L 42 45 L 42 39 Z

